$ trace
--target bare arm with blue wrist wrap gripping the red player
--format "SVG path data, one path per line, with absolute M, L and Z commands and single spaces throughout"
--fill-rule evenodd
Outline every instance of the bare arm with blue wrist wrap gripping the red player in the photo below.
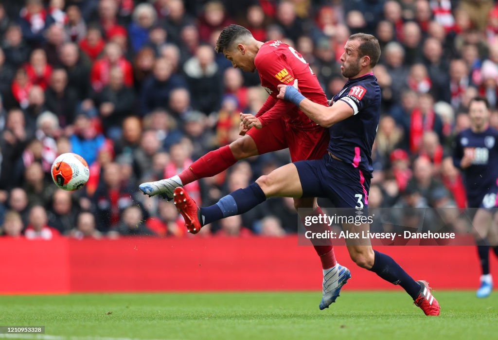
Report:
M 358 107 L 355 103 L 348 104 L 344 100 L 338 100 L 330 107 L 310 101 L 297 90 L 297 80 L 293 86 L 279 85 L 278 90 L 280 91 L 277 96 L 278 99 L 284 99 L 295 104 L 311 120 L 323 127 L 330 127 L 358 113 Z

